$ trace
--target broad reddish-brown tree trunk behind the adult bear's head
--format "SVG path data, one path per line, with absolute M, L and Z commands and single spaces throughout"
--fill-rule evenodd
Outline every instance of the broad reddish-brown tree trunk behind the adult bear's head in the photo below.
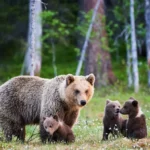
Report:
M 96 0 L 84 0 L 84 10 L 86 12 L 93 9 L 96 5 Z M 98 8 L 98 15 L 93 24 L 94 37 L 91 38 L 88 44 L 88 49 L 85 59 L 85 74 L 94 73 L 96 77 L 95 86 L 101 87 L 115 82 L 115 76 L 112 71 L 111 57 L 108 48 L 104 18 L 104 1 L 101 0 Z

